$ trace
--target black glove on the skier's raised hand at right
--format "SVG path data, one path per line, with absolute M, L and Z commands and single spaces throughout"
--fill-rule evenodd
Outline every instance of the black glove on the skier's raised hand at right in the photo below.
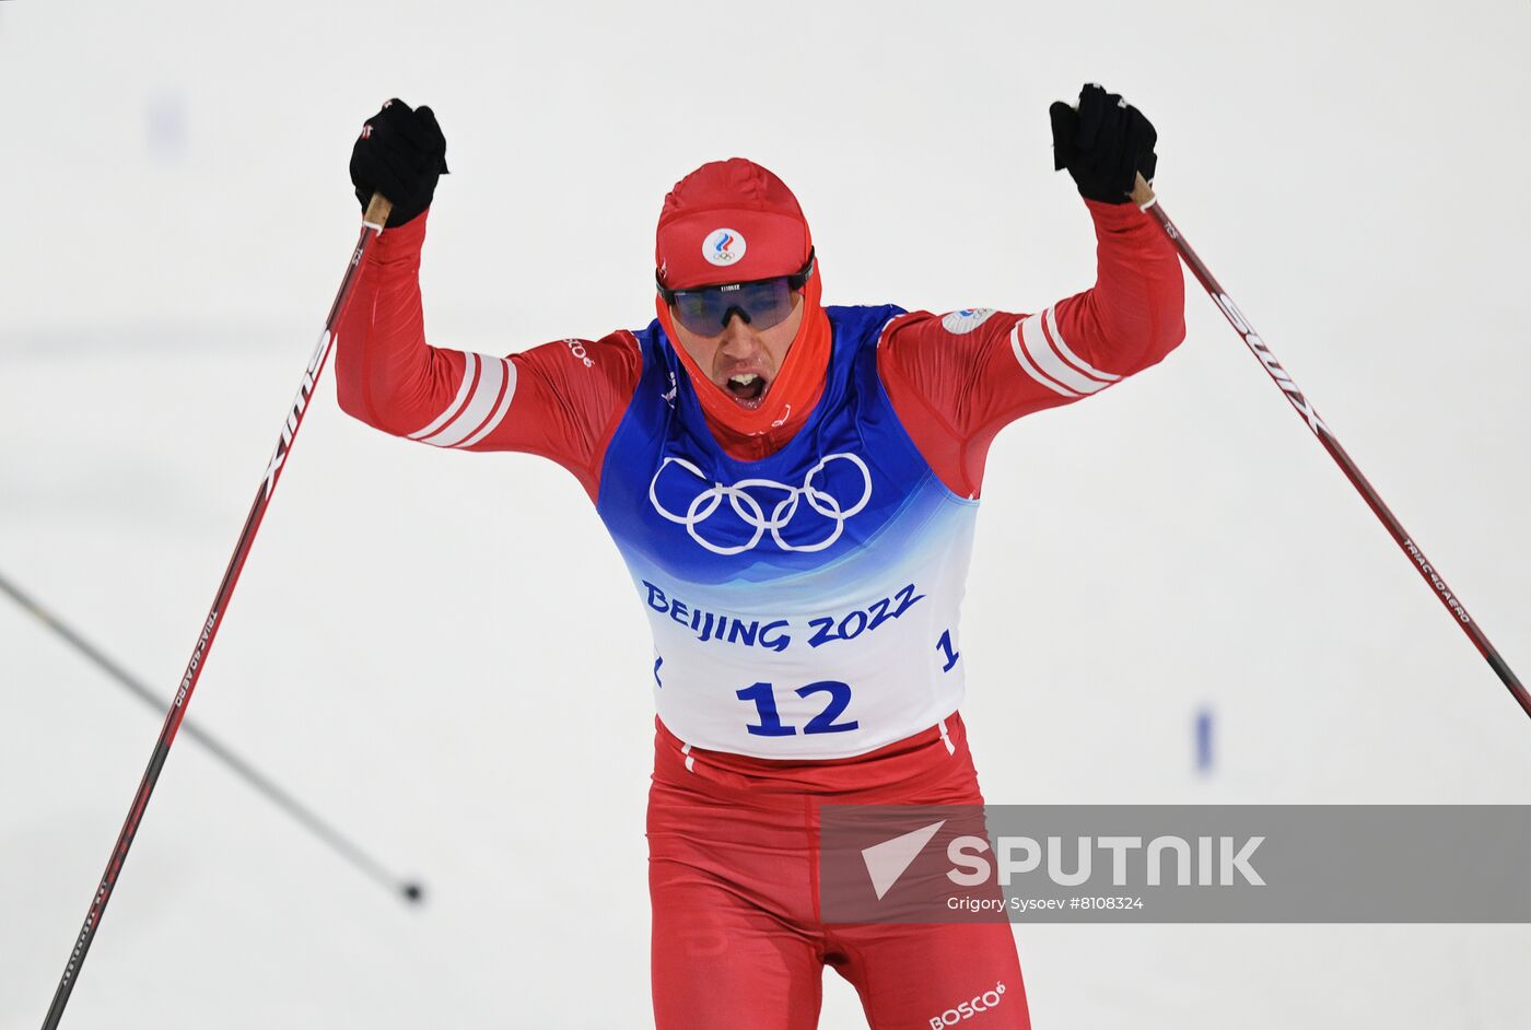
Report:
M 1159 133 L 1119 95 L 1090 83 L 1079 90 L 1078 107 L 1056 101 L 1047 113 L 1053 122 L 1053 171 L 1067 168 L 1082 196 L 1127 204 L 1139 171 L 1153 181 Z

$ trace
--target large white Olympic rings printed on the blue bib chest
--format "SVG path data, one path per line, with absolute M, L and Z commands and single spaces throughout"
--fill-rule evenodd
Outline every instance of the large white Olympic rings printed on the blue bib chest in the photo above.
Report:
M 824 468 L 833 461 L 848 461 L 862 474 L 862 494 L 856 500 L 856 504 L 850 505 L 848 508 L 842 507 L 839 497 L 836 497 L 834 494 L 813 485 L 813 478 L 818 476 L 821 471 L 824 471 Z M 802 478 L 801 487 L 788 487 L 787 484 L 779 484 L 773 479 L 741 479 L 732 487 L 713 481 L 710 487 L 697 493 L 692 502 L 686 507 L 686 514 L 675 514 L 668 508 L 664 508 L 663 504 L 660 504 L 657 493 L 660 476 L 663 476 L 664 470 L 669 468 L 671 465 L 680 465 L 701 482 L 707 482 L 707 476 L 704 476 L 703 471 L 697 468 L 697 465 L 686 461 L 684 458 L 669 456 L 663 462 L 660 462 L 658 471 L 655 471 L 654 479 L 649 481 L 649 504 L 652 504 L 654 510 L 658 511 L 669 522 L 686 526 L 686 533 L 690 534 L 690 539 L 700 543 L 701 546 L 707 548 L 713 554 L 743 554 L 744 551 L 750 551 L 755 548 L 756 543 L 759 543 L 764 539 L 767 530 L 770 531 L 772 539 L 776 542 L 776 546 L 781 548 L 782 551 L 822 551 L 824 548 L 830 546 L 831 543 L 841 539 L 841 533 L 845 531 L 845 520 L 854 516 L 862 508 L 865 508 L 867 502 L 871 500 L 871 471 L 867 468 L 867 462 L 863 462 L 856 455 L 836 453 L 836 455 L 825 455 L 824 458 L 821 458 L 819 464 L 810 468 L 808 473 Z M 785 496 L 776 502 L 776 505 L 772 508 L 770 517 L 767 517 L 766 508 L 761 505 L 759 500 L 756 500 L 749 493 L 749 490 L 752 488 L 779 490 Z M 729 507 L 733 510 L 733 514 L 736 514 L 741 520 L 744 520 L 746 525 L 755 530 L 755 534 L 749 539 L 747 543 L 724 546 L 721 543 L 713 543 L 712 540 L 707 540 L 698 531 L 697 526 L 704 523 L 718 510 L 724 497 L 729 499 Z M 834 522 L 834 528 L 830 531 L 830 534 L 825 539 L 819 540 L 818 543 L 790 543 L 784 540 L 781 536 L 781 531 L 787 528 L 793 516 L 798 514 L 801 500 L 807 500 L 808 508 L 819 513 L 825 519 L 831 519 Z

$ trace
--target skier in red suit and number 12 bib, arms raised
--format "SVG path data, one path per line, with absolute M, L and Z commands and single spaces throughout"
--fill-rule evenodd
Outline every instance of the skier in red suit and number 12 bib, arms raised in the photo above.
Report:
M 940 1025 L 986 992 L 966 1025 L 1029 1025 L 1006 923 L 824 924 L 814 830 L 821 803 L 981 803 L 958 606 L 989 444 L 1185 334 L 1176 251 L 1127 196 L 1153 178 L 1153 127 L 1099 86 L 1050 116 L 1095 220 L 1082 294 L 1029 315 L 825 308 L 798 200 L 735 158 L 664 197 L 654 321 L 508 358 L 426 343 L 435 115 L 390 101 L 355 144 L 358 197 L 393 210 L 337 335 L 341 407 L 568 468 L 651 621 L 660 1030 L 813 1027 L 824 966 L 874 1030 Z

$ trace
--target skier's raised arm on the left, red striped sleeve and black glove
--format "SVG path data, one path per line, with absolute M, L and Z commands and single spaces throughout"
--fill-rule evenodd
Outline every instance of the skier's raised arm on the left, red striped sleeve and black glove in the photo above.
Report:
M 510 357 L 426 341 L 419 256 L 446 138 L 429 107 L 389 101 L 351 159 L 358 197 L 395 200 L 335 338 L 340 407 L 435 447 L 519 450 L 557 461 L 596 496 L 600 459 L 640 375 L 628 334 L 560 340 Z

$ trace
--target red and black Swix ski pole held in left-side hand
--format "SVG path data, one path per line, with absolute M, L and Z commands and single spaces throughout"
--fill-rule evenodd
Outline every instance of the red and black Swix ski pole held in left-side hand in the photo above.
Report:
M 228 600 L 234 594 L 239 572 L 245 568 L 245 559 L 250 557 L 250 546 L 256 540 L 256 531 L 260 528 L 260 520 L 271 504 L 277 479 L 282 478 L 282 465 L 292 450 L 292 441 L 297 438 L 299 427 L 303 424 L 303 412 L 308 410 L 308 403 L 314 396 L 314 386 L 325 370 L 325 361 L 329 358 L 329 349 L 335 340 L 335 326 L 340 324 L 340 318 L 346 311 L 346 302 L 351 300 L 351 289 L 355 286 L 357 274 L 361 271 L 361 259 L 366 256 L 372 239 L 383 233 L 389 210 L 392 210 L 392 204 L 381 193 L 374 193 L 372 202 L 361 216 L 361 233 L 357 237 L 357 248 L 351 253 L 346 274 L 340 280 L 340 289 L 335 292 L 335 303 L 331 305 L 329 315 L 325 318 L 325 332 L 320 334 L 318 344 L 314 347 L 314 357 L 309 358 L 308 367 L 303 369 L 303 380 L 282 422 L 282 435 L 277 439 L 276 451 L 273 451 L 271 461 L 266 462 L 266 471 L 262 476 L 259 490 L 256 490 L 256 499 L 250 505 L 250 514 L 245 516 L 245 528 L 239 533 L 239 540 L 234 543 L 234 554 L 230 556 L 228 566 L 224 569 L 224 580 L 217 585 L 217 594 L 213 595 L 213 606 L 208 609 L 207 618 L 202 620 L 196 644 L 191 647 L 191 660 L 181 676 L 175 701 L 170 702 L 170 710 L 165 713 L 165 724 L 159 730 L 159 739 L 155 742 L 155 750 L 150 755 L 149 768 L 144 770 L 144 779 L 138 784 L 138 793 L 133 794 L 133 803 L 127 810 L 122 831 L 118 834 L 116 843 L 112 845 L 112 857 L 106 863 L 106 872 L 101 875 L 101 885 L 96 888 L 95 897 L 90 898 L 90 909 L 86 912 L 86 921 L 75 938 L 75 947 L 69 952 L 69 963 L 64 966 L 64 975 L 58 981 L 58 990 L 54 992 L 54 1002 L 47 1007 L 43 1030 L 55 1030 L 64 1018 L 64 1006 L 69 1004 L 69 995 L 80 978 L 80 967 L 84 964 L 90 943 L 95 940 L 106 905 L 112 900 L 116 878 L 121 875 L 122 863 L 127 860 L 127 849 L 133 846 L 133 837 L 138 834 L 138 823 L 144 817 L 144 808 L 149 805 L 150 794 L 155 793 L 155 784 L 159 782 L 159 771 L 164 768 L 170 745 L 176 739 L 176 730 L 181 728 L 181 721 L 185 718 L 187 704 L 191 701 L 196 681 L 207 666 L 207 655 L 213 647 L 213 638 L 217 635 L 224 614 L 228 609 Z

